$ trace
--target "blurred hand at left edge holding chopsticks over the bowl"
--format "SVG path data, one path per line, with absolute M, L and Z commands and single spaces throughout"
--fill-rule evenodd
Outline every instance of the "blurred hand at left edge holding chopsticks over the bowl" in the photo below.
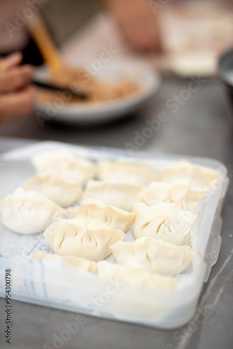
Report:
M 35 89 L 31 85 L 33 67 L 19 66 L 22 54 L 0 59 L 0 121 L 20 117 L 32 110 Z

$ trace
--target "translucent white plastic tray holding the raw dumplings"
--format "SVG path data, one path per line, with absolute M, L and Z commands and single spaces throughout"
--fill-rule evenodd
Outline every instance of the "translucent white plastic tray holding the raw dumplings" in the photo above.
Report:
M 127 151 L 117 149 L 89 149 L 58 142 L 40 142 L 0 157 L 0 200 L 35 174 L 30 163 L 33 154 L 59 147 L 92 160 L 125 157 L 128 161 L 141 161 L 161 169 L 182 158 L 218 170 L 220 180 L 216 189 L 202 198 L 192 226 L 193 266 L 178 276 L 179 285 L 172 291 L 123 285 L 79 271 L 65 262 L 29 259 L 31 253 L 40 249 L 50 251 L 43 234 L 17 235 L 0 222 L 0 296 L 5 297 L 5 269 L 11 269 L 13 299 L 164 329 L 184 325 L 195 313 L 202 285 L 208 280 L 211 267 L 218 259 L 220 213 L 229 183 L 225 166 L 209 158 L 151 156 L 142 152 L 135 152 L 132 157 Z M 127 235 L 129 239 L 130 232 Z M 108 260 L 113 261 L 114 258 L 110 256 Z

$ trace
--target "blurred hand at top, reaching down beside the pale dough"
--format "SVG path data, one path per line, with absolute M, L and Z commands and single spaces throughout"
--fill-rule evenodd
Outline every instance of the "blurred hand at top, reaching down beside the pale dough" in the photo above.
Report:
M 158 17 L 147 0 L 103 0 L 133 50 L 160 50 Z

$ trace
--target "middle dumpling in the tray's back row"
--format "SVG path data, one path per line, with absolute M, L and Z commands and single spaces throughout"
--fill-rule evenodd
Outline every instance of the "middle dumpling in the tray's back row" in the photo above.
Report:
M 100 161 L 98 178 L 100 181 L 123 181 L 146 186 L 151 181 L 158 180 L 158 173 L 143 163 Z

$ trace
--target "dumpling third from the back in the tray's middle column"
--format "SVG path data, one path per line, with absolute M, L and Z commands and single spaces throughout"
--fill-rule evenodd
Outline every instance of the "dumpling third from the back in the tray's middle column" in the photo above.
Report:
M 112 228 L 128 232 L 135 219 L 135 213 L 123 211 L 118 207 L 105 205 L 97 200 L 87 200 L 81 206 L 70 207 L 66 211 L 68 218 L 80 218 L 91 222 L 93 219 L 109 225 Z

